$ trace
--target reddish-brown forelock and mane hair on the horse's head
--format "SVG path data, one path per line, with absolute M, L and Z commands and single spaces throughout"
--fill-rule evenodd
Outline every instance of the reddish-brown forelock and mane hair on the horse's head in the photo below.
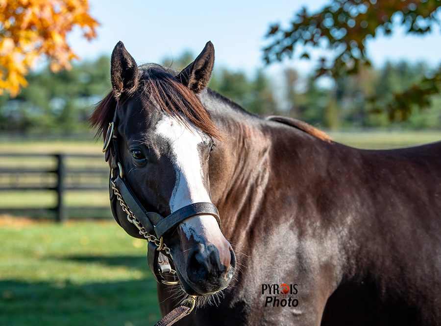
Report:
M 188 124 L 185 120 L 187 118 L 211 137 L 223 138 L 223 134 L 213 123 L 210 113 L 195 93 L 163 69 L 156 65 L 140 66 L 138 88 L 142 88 L 142 92 L 164 113 L 175 116 L 185 125 Z M 112 122 L 116 105 L 117 100 L 113 91 L 98 103 L 89 119 L 91 125 L 97 128 L 97 135 L 106 132 L 107 125 Z

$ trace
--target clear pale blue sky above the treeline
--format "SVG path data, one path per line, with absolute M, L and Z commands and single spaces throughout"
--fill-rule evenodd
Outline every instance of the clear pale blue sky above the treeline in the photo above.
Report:
M 197 55 L 207 41 L 216 50 L 216 67 L 254 71 L 264 67 L 262 48 L 271 23 L 289 23 L 302 6 L 317 11 L 330 0 L 89 0 L 91 14 L 101 26 L 98 38 L 87 42 L 79 30 L 69 43 L 81 59 L 110 55 L 118 41 L 138 63 L 159 62 L 165 56 L 178 58 L 184 50 Z M 394 30 L 392 37 L 377 37 L 368 42 L 368 54 L 377 66 L 387 60 L 441 63 L 440 26 L 424 37 L 405 35 Z M 281 66 L 307 72 L 314 61 L 287 60 L 266 70 L 274 73 Z

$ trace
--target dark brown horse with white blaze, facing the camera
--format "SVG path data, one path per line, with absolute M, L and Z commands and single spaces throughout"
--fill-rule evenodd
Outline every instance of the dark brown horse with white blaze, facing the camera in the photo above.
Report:
M 157 285 L 161 313 L 191 296 L 176 325 L 440 325 L 441 142 L 345 146 L 246 112 L 208 88 L 213 65 L 211 42 L 181 71 L 137 66 L 119 42 L 91 117 L 114 143 L 111 181 L 136 197 L 124 210 L 111 186 L 128 234 L 150 236 L 133 215 L 210 207 L 152 241 L 174 273 Z

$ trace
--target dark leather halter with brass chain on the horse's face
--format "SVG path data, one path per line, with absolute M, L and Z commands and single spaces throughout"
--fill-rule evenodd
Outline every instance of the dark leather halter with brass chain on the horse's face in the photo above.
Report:
M 118 223 L 119 220 L 127 218 L 138 228 L 139 233 L 147 238 L 148 267 L 156 281 L 164 284 L 177 284 L 175 271 L 172 270 L 169 263 L 169 258 L 172 258 L 172 255 L 170 249 L 163 242 L 163 235 L 174 230 L 185 219 L 196 215 L 212 215 L 221 224 L 218 209 L 212 203 L 194 203 L 172 212 L 167 217 L 163 217 L 156 212 L 147 212 L 130 186 L 124 182 L 123 167 L 118 160 L 117 111 L 118 105 L 115 108 L 113 121 L 109 123 L 107 128 L 102 149 L 105 153 L 106 162 L 112 157 L 109 190 L 113 216 Z M 120 202 L 123 213 L 117 209 L 117 201 Z M 175 280 L 165 280 L 162 276 L 163 273 L 172 273 Z

